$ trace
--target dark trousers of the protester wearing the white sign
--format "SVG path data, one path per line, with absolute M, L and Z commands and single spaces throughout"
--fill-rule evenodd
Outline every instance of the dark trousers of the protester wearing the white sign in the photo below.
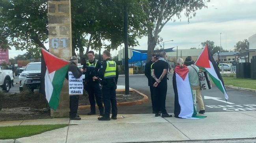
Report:
M 77 115 L 79 95 L 69 96 L 69 109 L 70 118 L 74 118 Z

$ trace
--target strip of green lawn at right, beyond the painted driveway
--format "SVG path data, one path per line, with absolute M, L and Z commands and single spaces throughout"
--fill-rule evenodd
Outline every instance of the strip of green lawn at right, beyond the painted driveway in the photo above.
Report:
M 256 80 L 250 78 L 222 77 L 225 85 L 243 87 L 247 89 L 256 89 Z

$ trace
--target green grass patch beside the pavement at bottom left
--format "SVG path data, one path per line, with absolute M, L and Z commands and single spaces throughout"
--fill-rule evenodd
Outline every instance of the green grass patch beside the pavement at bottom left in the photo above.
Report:
M 68 125 L 25 125 L 0 127 L 0 139 L 17 139 L 27 136 L 33 136 L 42 132 L 59 129 L 66 126 Z

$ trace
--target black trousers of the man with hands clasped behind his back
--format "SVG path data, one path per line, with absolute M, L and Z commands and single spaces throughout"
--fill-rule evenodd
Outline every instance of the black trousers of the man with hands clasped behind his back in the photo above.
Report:
M 161 111 L 166 114 L 165 100 L 167 93 L 167 81 L 161 81 L 157 87 L 153 87 L 153 102 L 155 107 L 155 112 Z

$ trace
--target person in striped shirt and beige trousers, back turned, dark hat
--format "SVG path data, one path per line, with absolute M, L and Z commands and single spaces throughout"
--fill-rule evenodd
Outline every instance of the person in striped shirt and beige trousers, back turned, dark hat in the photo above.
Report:
M 191 85 L 191 88 L 193 90 L 196 90 L 196 101 L 198 103 L 199 107 L 199 113 L 204 114 L 205 109 L 204 109 L 204 102 L 201 96 L 201 91 L 200 91 L 200 80 L 199 80 L 199 68 L 196 65 L 193 65 L 194 61 L 192 61 L 191 56 L 188 56 L 185 60 L 185 65 L 189 69 L 189 83 Z

